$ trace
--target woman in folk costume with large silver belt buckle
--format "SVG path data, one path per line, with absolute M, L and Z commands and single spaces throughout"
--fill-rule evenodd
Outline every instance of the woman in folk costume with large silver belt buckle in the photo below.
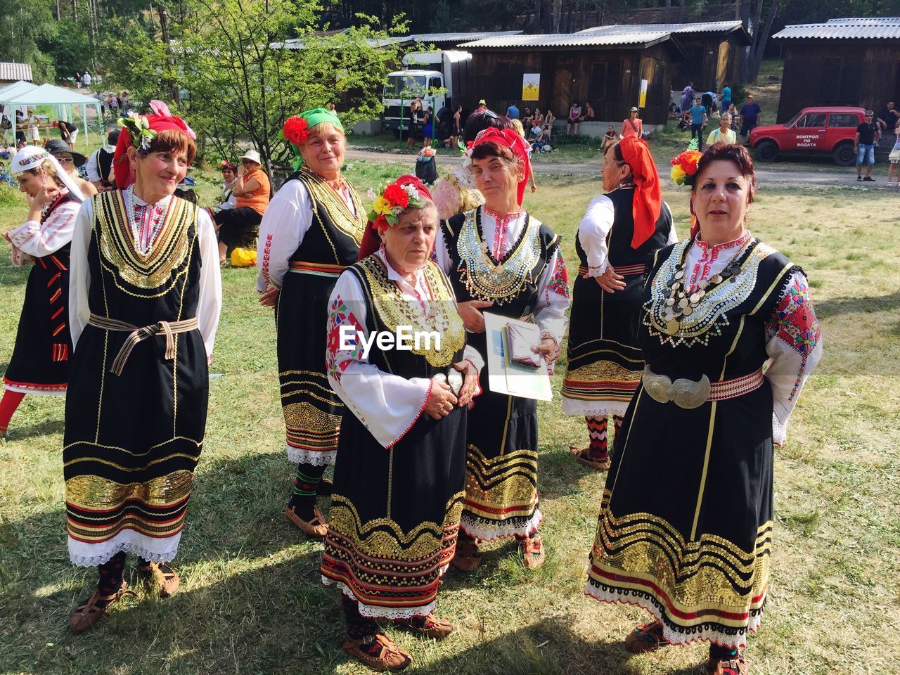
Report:
M 822 354 L 806 275 L 754 238 L 743 146 L 683 153 L 698 227 L 649 263 L 647 365 L 616 437 L 585 592 L 653 615 L 646 652 L 710 643 L 707 672 L 745 675 L 770 581 L 772 446 Z M 762 372 L 763 365 L 769 367 Z

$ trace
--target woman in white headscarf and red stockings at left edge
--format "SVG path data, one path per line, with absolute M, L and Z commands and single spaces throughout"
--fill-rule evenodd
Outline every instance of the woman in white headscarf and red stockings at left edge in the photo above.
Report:
M 31 265 L 13 356 L 4 374 L 0 437 L 26 393 L 62 396 L 68 382 L 72 338 L 68 329 L 68 251 L 81 191 L 43 148 L 25 146 L 10 173 L 28 200 L 28 218 L 4 233 L 13 265 Z

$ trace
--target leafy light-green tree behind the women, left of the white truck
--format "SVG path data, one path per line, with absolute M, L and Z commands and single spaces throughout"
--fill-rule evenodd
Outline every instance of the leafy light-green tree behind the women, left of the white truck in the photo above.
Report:
M 256 148 L 266 168 L 286 156 L 278 139 L 284 120 L 335 102 L 349 126 L 381 112 L 382 84 L 398 48 L 372 40 L 386 31 L 361 16 L 359 27 L 318 31 L 315 0 L 172 0 L 166 11 L 118 24 L 105 62 L 138 99 L 184 96 L 180 106 L 202 147 L 234 157 L 236 145 Z M 162 17 L 169 42 L 161 40 Z M 395 28 L 405 29 L 401 23 Z M 287 49 L 284 40 L 302 49 Z

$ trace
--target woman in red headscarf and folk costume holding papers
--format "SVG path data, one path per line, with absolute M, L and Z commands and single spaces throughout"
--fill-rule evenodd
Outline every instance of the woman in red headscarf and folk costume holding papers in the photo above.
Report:
M 559 238 L 522 209 L 531 165 L 515 130 L 483 130 L 472 150 L 484 206 L 447 220 L 437 237 L 438 265 L 454 284 L 470 344 L 485 356 L 482 310 L 510 319 L 533 318 L 538 351 L 552 364 L 569 307 L 569 284 Z M 469 417 L 465 508 L 454 565 L 473 571 L 478 539 L 515 536 L 529 569 L 545 561 L 537 527 L 537 401 L 488 391 Z

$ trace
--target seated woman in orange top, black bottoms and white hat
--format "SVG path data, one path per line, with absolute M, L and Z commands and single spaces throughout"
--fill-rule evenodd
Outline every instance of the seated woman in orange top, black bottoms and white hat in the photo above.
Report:
M 247 150 L 238 158 L 238 179 L 231 187 L 236 202 L 233 209 L 215 215 L 219 232 L 219 261 L 224 263 L 229 247 L 252 245 L 259 223 L 266 215 L 272 185 L 256 150 Z

